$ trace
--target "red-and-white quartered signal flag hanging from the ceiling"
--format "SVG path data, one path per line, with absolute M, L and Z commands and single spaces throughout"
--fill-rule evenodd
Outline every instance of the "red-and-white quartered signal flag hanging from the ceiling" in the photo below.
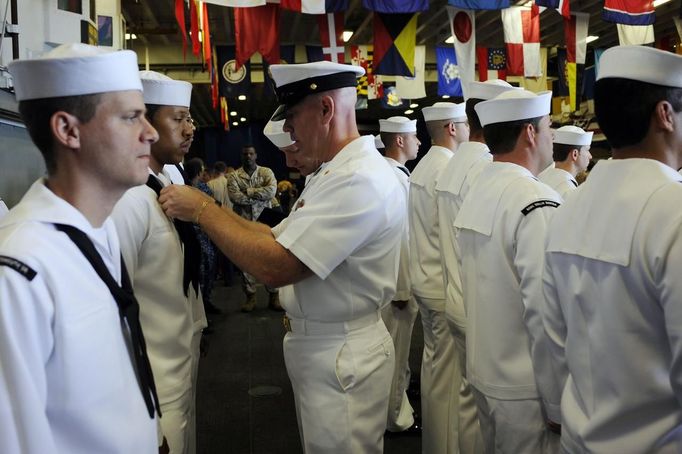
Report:
M 540 77 L 540 9 L 513 6 L 502 10 L 504 42 L 507 45 L 507 74 Z

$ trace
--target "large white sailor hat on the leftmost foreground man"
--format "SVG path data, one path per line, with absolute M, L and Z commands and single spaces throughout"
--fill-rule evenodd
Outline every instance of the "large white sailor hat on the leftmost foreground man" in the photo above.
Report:
M 142 90 L 137 54 L 88 44 L 62 44 L 31 60 L 9 64 L 17 101 Z

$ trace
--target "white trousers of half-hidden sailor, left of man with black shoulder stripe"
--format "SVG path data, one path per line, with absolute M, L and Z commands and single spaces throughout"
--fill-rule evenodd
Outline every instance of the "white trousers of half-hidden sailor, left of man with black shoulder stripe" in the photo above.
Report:
M 451 396 L 454 401 L 454 414 L 450 421 L 457 427 L 457 444 L 448 447 L 448 452 L 461 454 L 482 454 L 484 452 L 481 426 L 478 422 L 476 399 L 472 387 L 466 378 L 466 335 L 463 320 L 449 316 L 446 306 L 445 314 L 448 326 L 455 341 L 455 370 L 452 379 Z

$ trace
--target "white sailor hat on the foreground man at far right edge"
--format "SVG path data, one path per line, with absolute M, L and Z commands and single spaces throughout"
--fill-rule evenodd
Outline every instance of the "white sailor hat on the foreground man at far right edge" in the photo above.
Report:
M 597 80 L 611 77 L 682 87 L 682 56 L 646 46 L 611 47 L 599 59 Z

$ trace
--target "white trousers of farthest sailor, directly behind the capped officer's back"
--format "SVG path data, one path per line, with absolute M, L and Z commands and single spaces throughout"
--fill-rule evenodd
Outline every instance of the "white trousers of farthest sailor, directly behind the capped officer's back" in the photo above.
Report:
M 401 432 L 414 424 L 414 410 L 405 391 L 410 385 L 410 343 L 418 312 L 414 298 L 407 301 L 404 309 L 398 309 L 389 303 L 381 311 L 381 318 L 395 348 L 395 369 L 388 398 L 387 428 L 391 432 Z

